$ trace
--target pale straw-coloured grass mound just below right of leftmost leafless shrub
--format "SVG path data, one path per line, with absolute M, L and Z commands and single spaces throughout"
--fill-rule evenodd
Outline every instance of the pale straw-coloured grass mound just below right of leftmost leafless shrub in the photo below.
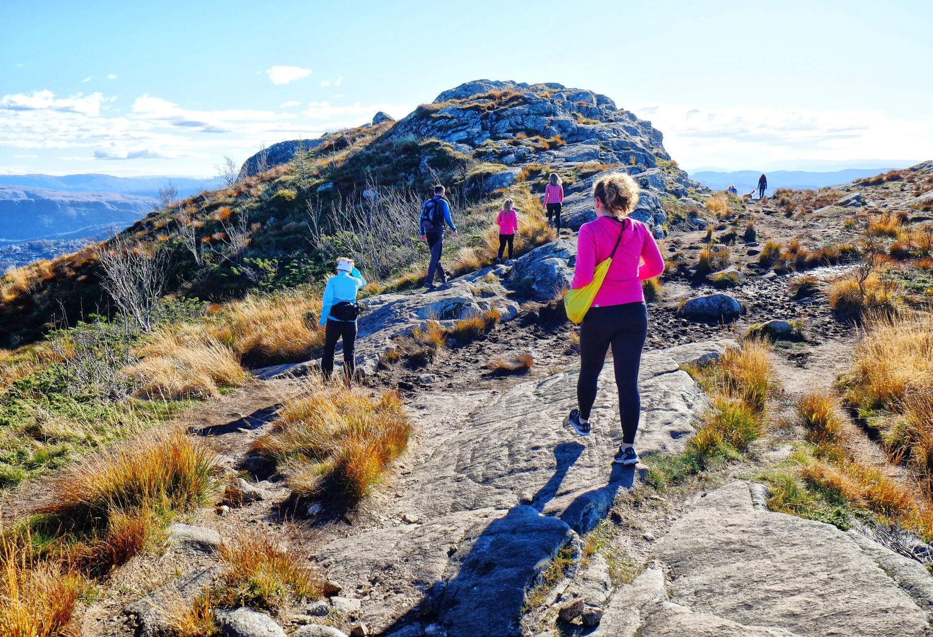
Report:
M 120 373 L 147 398 L 214 398 L 220 387 L 239 387 L 249 379 L 230 346 L 204 335 L 201 327 L 159 330 L 136 355 L 142 360 Z

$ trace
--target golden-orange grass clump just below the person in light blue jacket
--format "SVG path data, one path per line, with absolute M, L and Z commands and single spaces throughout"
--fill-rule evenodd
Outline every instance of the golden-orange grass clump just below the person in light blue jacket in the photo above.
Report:
M 309 381 L 285 402 L 272 432 L 254 449 L 285 464 L 288 484 L 303 496 L 333 487 L 362 498 L 408 445 L 411 423 L 396 392 L 367 392 Z

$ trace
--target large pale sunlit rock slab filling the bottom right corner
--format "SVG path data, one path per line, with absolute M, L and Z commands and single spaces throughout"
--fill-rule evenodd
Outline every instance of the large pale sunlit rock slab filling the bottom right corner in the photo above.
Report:
M 655 553 L 592 635 L 928 634 L 922 565 L 854 532 L 760 510 L 745 482 L 698 498 Z

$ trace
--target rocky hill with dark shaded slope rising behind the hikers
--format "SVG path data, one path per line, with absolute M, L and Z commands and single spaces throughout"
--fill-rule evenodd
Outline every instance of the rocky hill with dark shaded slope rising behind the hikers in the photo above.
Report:
M 327 260 L 356 251 L 356 238 L 376 230 L 391 239 L 364 236 L 365 242 L 391 250 L 370 250 L 369 280 L 411 267 L 426 256 L 416 241 L 418 207 L 438 181 L 449 187 L 455 215 L 466 219 L 466 232 L 450 242 L 453 252 L 483 241 L 506 191 L 530 214 L 551 170 L 562 173 L 568 192 L 606 170 L 633 173 L 645 188 L 636 215 L 657 236 L 667 227 L 666 206 L 681 201 L 687 209 L 703 201 L 704 188 L 669 159 L 660 132 L 592 91 L 483 80 L 442 94 L 398 122 L 379 120 L 300 145 L 305 152 L 233 187 L 146 215 L 122 237 L 171 254 L 169 291 L 224 300 L 319 280 L 329 270 Z M 255 161 L 245 162 L 247 173 Z M 364 197 L 366 191 L 383 197 Z M 585 207 L 582 199 L 578 205 Z M 391 227 L 355 221 L 373 214 L 377 220 L 393 215 Z M 200 264 L 181 232 L 192 225 Z M 35 339 L 56 320 L 107 312 L 100 275 L 89 248 L 7 277 L 0 343 Z

